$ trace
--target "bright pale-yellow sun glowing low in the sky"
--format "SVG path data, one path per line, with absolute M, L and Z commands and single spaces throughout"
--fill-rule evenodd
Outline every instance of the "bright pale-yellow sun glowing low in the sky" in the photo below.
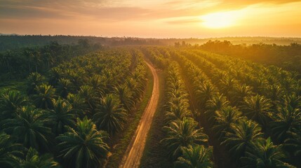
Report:
M 237 13 L 232 11 L 220 12 L 220 13 L 209 13 L 202 15 L 202 25 L 212 29 L 220 29 L 225 27 L 232 27 L 235 25 L 237 19 Z

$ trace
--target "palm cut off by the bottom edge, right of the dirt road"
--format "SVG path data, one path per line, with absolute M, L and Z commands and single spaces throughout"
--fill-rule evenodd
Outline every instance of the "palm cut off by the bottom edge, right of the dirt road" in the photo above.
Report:
M 213 167 L 213 148 L 204 146 L 182 147 L 182 156 L 175 162 L 175 167 L 182 168 L 210 168 Z

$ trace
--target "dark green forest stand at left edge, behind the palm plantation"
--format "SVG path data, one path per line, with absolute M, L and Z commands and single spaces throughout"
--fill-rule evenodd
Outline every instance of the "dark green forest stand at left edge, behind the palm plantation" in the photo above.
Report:
M 0 79 L 22 78 L 32 72 L 43 73 L 65 60 L 100 48 L 101 45 L 79 39 L 76 45 L 53 41 L 44 46 L 6 50 L 0 52 Z

